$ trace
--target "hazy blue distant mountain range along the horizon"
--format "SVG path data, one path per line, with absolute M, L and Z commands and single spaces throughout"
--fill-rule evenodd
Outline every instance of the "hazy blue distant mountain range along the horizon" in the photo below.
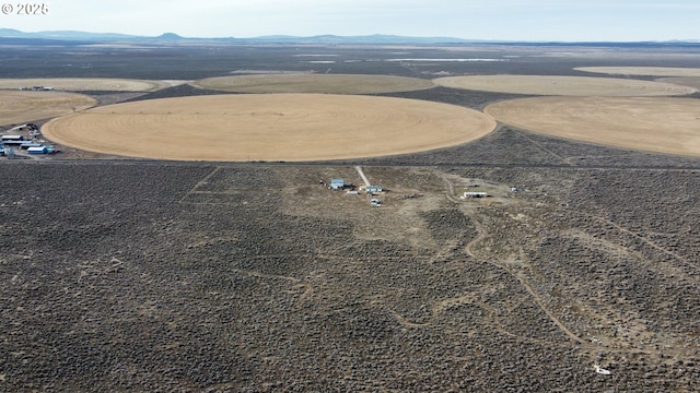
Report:
M 310 37 L 272 35 L 248 38 L 220 37 L 220 38 L 191 38 L 183 37 L 175 33 L 165 33 L 160 36 L 138 36 L 118 33 L 88 33 L 75 31 L 49 31 L 25 33 L 13 28 L 0 28 L 0 39 L 16 40 L 40 40 L 42 43 L 60 44 L 61 41 L 151 41 L 151 43 L 238 43 L 238 44 L 373 44 L 373 45 L 393 45 L 393 44 L 565 44 L 565 45 L 592 45 L 600 43 L 565 43 L 565 41 L 539 41 L 539 43 L 522 43 L 515 40 L 486 40 L 486 39 L 464 39 L 454 37 L 407 37 L 396 35 L 364 35 L 364 36 L 337 36 L 337 35 L 317 35 Z M 614 43 L 606 43 L 614 44 Z M 640 43 L 618 43 L 622 45 L 697 45 L 700 40 L 673 40 L 673 41 L 640 41 Z

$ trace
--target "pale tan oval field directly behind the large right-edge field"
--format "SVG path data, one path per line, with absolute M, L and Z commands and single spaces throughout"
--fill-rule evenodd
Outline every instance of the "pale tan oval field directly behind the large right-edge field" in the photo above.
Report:
M 453 88 L 557 96 L 641 97 L 697 92 L 696 88 L 670 83 L 585 76 L 474 75 L 439 78 L 433 82 Z

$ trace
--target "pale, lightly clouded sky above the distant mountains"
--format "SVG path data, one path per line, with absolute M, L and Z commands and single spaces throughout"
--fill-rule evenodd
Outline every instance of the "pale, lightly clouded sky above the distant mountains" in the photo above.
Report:
M 0 27 L 185 37 L 388 34 L 500 40 L 700 39 L 699 0 L 52 0 Z M 24 10 L 27 11 L 27 10 Z

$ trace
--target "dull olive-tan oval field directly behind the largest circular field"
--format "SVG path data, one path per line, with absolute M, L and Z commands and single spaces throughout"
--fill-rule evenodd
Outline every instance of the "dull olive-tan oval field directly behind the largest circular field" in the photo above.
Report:
M 191 84 L 201 88 L 238 93 L 328 94 L 395 93 L 435 86 L 429 80 L 406 76 L 289 73 L 209 78 Z

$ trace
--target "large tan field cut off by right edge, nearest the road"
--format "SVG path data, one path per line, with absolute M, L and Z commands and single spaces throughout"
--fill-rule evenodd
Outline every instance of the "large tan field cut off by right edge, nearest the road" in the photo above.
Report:
M 497 120 L 555 136 L 700 155 L 700 106 L 690 98 L 539 97 L 486 108 Z

